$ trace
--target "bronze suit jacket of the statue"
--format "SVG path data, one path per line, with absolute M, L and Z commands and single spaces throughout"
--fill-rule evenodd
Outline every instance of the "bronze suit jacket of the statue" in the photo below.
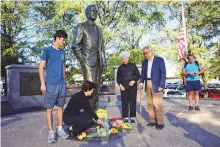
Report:
M 103 67 L 106 66 L 106 57 L 102 31 L 97 27 L 98 34 L 94 34 L 92 29 L 92 24 L 88 21 L 76 26 L 72 42 L 73 53 L 81 64 L 91 67 L 99 64 Z

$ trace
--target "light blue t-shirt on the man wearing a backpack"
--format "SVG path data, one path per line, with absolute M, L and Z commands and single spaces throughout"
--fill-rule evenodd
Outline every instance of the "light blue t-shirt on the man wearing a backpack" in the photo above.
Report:
M 201 68 L 201 65 L 199 64 L 199 67 L 198 67 L 195 62 L 193 63 L 188 62 L 185 68 L 184 66 L 185 64 L 183 64 L 182 68 L 186 70 L 186 73 L 196 73 L 196 72 L 199 72 L 199 69 Z M 199 75 L 196 75 L 196 76 L 187 75 L 186 76 L 186 81 L 198 81 L 198 80 L 200 80 Z

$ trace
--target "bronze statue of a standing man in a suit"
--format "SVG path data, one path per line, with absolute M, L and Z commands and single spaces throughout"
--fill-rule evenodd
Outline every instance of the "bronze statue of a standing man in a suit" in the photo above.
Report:
M 72 49 L 80 62 L 84 80 L 95 82 L 99 88 L 107 65 L 102 31 L 95 24 L 97 14 L 96 5 L 89 5 L 86 8 L 87 20 L 76 26 Z

